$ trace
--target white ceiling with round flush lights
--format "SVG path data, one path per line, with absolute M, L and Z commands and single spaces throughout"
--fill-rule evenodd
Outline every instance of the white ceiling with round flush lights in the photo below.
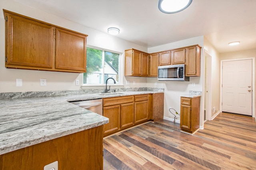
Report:
M 14 1 L 104 33 L 118 27 L 116 37 L 144 47 L 204 35 L 220 53 L 256 48 L 256 0 L 193 0 L 176 14 L 160 12 L 158 0 Z

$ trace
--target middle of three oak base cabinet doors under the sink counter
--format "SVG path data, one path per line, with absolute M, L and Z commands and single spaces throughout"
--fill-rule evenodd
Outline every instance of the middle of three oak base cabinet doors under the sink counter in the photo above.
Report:
M 134 103 L 121 104 L 120 129 L 134 125 Z

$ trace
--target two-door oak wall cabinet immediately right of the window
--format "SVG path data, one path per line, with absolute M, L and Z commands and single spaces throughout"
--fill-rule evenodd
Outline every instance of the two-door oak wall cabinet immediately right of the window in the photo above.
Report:
M 128 49 L 125 50 L 124 58 L 124 76 L 148 76 L 148 53 Z

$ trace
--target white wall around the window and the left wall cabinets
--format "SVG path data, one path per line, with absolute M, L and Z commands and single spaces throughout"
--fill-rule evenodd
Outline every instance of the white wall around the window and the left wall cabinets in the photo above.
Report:
M 90 29 L 84 25 L 65 20 L 64 18 L 48 14 L 41 10 L 36 10 L 28 6 L 24 6 L 13 0 L 1 0 L 0 9 L 6 9 L 24 16 L 29 16 L 37 20 L 45 21 L 60 27 L 78 31 L 87 34 L 87 44 L 95 47 L 109 49 L 124 54 L 125 49 L 135 48 L 141 51 L 147 51 L 146 47 L 124 41 L 123 39 L 114 37 L 107 33 Z M 49 91 L 49 90 L 78 90 L 81 86 L 75 86 L 75 80 L 80 80 L 82 84 L 82 74 L 67 73 L 67 72 L 50 72 L 38 70 L 21 70 L 10 69 L 4 66 L 5 56 L 5 20 L 3 13 L 0 13 L 0 92 L 30 92 L 30 91 Z M 124 56 L 122 56 L 123 59 Z M 121 66 L 122 70 L 124 65 Z M 121 74 L 123 75 L 123 74 Z M 16 78 L 21 78 L 22 87 L 16 87 Z M 40 78 L 46 78 L 47 86 L 40 86 Z M 130 82 L 136 81 L 136 85 L 130 83 L 130 86 L 125 87 L 145 87 L 146 78 L 124 77 L 125 84 L 127 80 Z

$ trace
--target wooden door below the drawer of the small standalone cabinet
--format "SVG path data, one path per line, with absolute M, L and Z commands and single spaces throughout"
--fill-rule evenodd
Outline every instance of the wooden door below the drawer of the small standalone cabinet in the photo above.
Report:
M 191 106 L 180 105 L 180 128 L 191 129 Z

